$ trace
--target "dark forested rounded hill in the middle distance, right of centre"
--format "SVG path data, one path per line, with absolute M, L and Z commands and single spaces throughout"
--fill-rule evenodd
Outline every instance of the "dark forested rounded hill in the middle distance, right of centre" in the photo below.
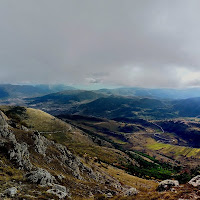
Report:
M 108 96 L 89 103 L 81 104 L 69 110 L 72 114 L 115 118 L 151 118 L 163 119 L 176 116 L 171 104 L 157 99 Z

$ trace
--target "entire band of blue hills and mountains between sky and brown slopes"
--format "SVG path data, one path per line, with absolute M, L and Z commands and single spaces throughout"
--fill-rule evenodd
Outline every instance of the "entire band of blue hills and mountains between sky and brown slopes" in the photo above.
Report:
M 196 96 L 200 96 L 199 88 L 87 91 L 65 85 L 0 85 L 1 104 L 14 102 L 14 105 L 39 108 L 53 115 L 79 114 L 109 119 L 196 117 L 200 115 L 200 97 Z

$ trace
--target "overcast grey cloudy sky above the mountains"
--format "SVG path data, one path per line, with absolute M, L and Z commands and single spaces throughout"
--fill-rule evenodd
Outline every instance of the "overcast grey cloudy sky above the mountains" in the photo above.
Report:
M 199 0 L 1 0 L 0 83 L 199 87 Z

